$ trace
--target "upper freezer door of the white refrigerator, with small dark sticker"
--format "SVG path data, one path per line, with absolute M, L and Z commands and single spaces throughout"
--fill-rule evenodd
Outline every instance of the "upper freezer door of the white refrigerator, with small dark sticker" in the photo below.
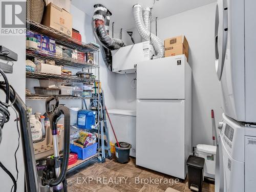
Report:
M 137 99 L 185 99 L 185 55 L 139 62 Z

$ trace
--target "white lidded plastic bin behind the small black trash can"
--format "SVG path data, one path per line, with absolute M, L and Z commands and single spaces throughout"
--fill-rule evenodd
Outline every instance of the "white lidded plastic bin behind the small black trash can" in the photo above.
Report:
M 214 145 L 197 145 L 197 156 L 205 159 L 204 176 L 215 179 L 216 150 Z

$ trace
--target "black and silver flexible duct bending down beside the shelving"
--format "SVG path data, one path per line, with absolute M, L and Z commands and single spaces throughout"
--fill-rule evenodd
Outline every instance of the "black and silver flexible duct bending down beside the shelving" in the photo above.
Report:
M 126 46 L 121 39 L 111 38 L 109 35 L 110 16 L 112 13 L 103 5 L 94 5 L 93 24 L 94 32 L 101 46 L 105 65 L 112 71 L 112 54 L 111 50 L 116 50 Z

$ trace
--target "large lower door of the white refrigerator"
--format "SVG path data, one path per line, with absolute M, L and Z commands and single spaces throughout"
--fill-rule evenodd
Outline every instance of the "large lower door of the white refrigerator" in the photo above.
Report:
M 185 101 L 137 99 L 136 164 L 185 179 Z

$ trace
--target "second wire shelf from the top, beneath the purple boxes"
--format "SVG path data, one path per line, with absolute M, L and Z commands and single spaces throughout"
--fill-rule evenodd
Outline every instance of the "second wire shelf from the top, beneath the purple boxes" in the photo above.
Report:
M 30 57 L 39 57 L 41 59 L 49 59 L 53 60 L 59 65 L 71 67 L 71 68 L 78 68 L 78 69 L 94 69 L 97 68 L 98 65 L 92 64 L 90 62 L 81 61 L 78 59 L 73 59 L 70 57 L 61 56 L 55 53 L 51 53 L 45 50 L 38 50 L 31 47 L 26 47 L 26 55 Z

